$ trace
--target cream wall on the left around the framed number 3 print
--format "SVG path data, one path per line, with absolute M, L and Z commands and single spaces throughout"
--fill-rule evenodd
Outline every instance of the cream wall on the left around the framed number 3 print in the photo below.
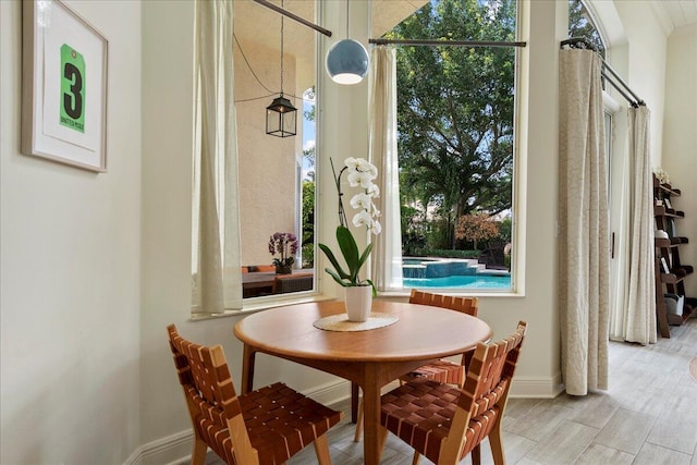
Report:
M 142 443 L 140 4 L 68 4 L 109 40 L 107 173 L 20 154 L 21 2 L 0 1 L 3 464 L 118 464 Z

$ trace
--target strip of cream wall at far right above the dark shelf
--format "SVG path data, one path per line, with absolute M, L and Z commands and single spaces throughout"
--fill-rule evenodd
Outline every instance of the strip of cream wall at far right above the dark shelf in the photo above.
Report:
M 680 247 L 681 262 L 697 265 L 697 26 L 675 30 L 668 41 L 665 119 L 662 167 L 683 191 L 674 201 L 685 211 L 678 233 L 689 237 Z M 685 292 L 697 296 L 697 277 L 685 280 Z

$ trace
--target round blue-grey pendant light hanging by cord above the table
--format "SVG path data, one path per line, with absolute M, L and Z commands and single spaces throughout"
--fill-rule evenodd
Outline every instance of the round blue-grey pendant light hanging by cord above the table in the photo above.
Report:
M 346 0 L 346 38 L 327 52 L 327 73 L 337 84 L 358 84 L 368 74 L 370 60 L 366 48 L 348 38 L 348 0 Z

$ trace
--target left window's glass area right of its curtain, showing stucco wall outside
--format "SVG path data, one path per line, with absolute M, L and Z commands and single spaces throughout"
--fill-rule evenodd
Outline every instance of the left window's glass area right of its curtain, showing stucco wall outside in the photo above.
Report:
M 243 297 L 311 291 L 317 33 L 254 2 L 234 2 L 234 8 Z M 293 2 L 285 8 L 302 17 L 315 17 L 315 2 Z M 265 25 L 264 34 L 259 33 L 260 24 Z M 265 109 L 281 89 L 297 109 L 295 136 L 274 137 L 265 131 Z M 288 255 L 292 272 L 301 274 L 301 284 L 277 285 L 273 259 L 280 259 L 281 254 L 269 250 L 274 233 L 296 237 L 297 247 Z

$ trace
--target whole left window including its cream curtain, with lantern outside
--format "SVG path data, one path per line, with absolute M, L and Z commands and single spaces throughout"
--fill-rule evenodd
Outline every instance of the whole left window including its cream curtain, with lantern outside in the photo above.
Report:
M 313 292 L 315 32 L 255 2 L 197 2 L 196 37 L 192 313 Z M 297 109 L 284 137 L 267 134 L 279 97 Z

